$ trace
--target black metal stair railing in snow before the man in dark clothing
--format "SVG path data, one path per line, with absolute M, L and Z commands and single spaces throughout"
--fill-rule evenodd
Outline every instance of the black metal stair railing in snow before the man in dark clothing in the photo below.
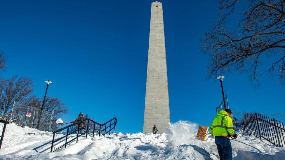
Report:
M 73 131 L 69 132 L 69 129 L 70 129 L 71 127 L 73 127 L 73 126 L 75 126 L 75 125 L 77 125 L 77 124 L 80 124 L 80 123 L 83 122 L 83 121 L 87 121 L 87 126 L 82 126 L 82 127 L 79 127 L 79 128 L 76 129 L 76 130 L 73 130 Z M 110 124 L 109 124 L 109 123 L 110 123 Z M 106 134 L 109 133 L 109 135 L 110 135 L 110 134 L 112 134 L 112 133 L 115 132 L 115 126 L 116 126 L 116 124 L 117 124 L 117 118 L 116 118 L 116 117 L 110 119 L 109 121 L 107 121 L 107 122 L 105 122 L 105 123 L 103 123 L 103 124 L 100 124 L 100 123 L 98 123 L 98 122 L 95 122 L 95 121 L 93 121 L 93 120 L 87 118 L 87 119 L 83 119 L 83 120 L 81 120 L 81 121 L 78 121 L 78 122 L 76 122 L 76 123 L 70 124 L 70 125 L 68 125 L 68 126 L 66 126 L 66 127 L 63 127 L 63 128 L 61 128 L 61 129 L 58 129 L 58 130 L 56 130 L 56 131 L 53 131 L 53 141 L 52 141 L 52 143 L 51 143 L 51 152 L 56 151 L 56 150 L 60 149 L 60 148 L 63 147 L 63 146 L 65 146 L 65 148 L 66 148 L 66 145 L 69 144 L 69 143 L 71 143 L 71 142 L 74 141 L 75 139 L 76 139 L 76 143 L 77 143 L 77 142 L 78 142 L 78 137 L 80 137 L 80 136 L 82 136 L 82 135 L 84 135 L 84 134 L 86 134 L 86 137 L 85 137 L 85 138 L 87 138 L 87 134 L 90 134 L 90 135 L 92 135 L 92 136 L 94 137 L 95 133 L 98 133 L 99 136 L 101 135 L 101 133 L 104 133 L 104 135 L 106 135 Z M 108 125 L 108 126 L 107 126 L 107 125 Z M 84 128 L 86 128 L 86 133 L 81 133 L 81 134 L 79 134 L 79 131 L 80 131 L 81 129 L 84 129 Z M 58 132 L 61 132 L 61 131 L 65 130 L 65 129 L 67 129 L 66 135 L 55 140 L 55 134 L 58 133 Z M 90 133 L 90 130 L 93 132 L 93 134 Z M 88 133 L 88 131 L 89 131 L 89 133 Z M 111 133 L 111 131 L 112 131 L 112 133 Z M 77 132 L 77 133 L 76 133 L 76 132 Z M 68 137 L 68 136 L 71 135 L 72 133 L 76 133 L 76 136 L 70 136 L 70 137 Z M 62 144 L 62 143 L 61 143 L 62 141 L 60 141 L 60 140 L 62 140 L 63 138 L 65 138 L 65 143 L 64 143 L 64 144 Z M 71 139 L 71 140 L 68 140 L 68 138 L 72 138 L 72 139 Z M 64 140 L 64 139 L 63 139 L 63 140 Z M 56 142 L 58 142 L 58 143 L 55 144 Z M 55 148 L 55 149 L 53 150 L 54 145 L 60 145 L 60 146 L 57 147 L 57 148 Z

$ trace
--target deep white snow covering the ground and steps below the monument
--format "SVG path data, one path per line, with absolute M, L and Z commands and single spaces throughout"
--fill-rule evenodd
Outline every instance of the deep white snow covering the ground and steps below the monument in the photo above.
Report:
M 195 123 L 180 121 L 171 124 L 163 134 L 80 137 L 78 143 L 74 141 L 66 149 L 51 153 L 51 132 L 21 128 L 12 123 L 6 128 L 0 159 L 219 159 L 214 137 L 196 140 L 197 128 Z M 231 140 L 234 159 L 284 159 L 284 148 L 238 134 L 236 140 Z M 58 134 L 55 138 L 62 136 Z

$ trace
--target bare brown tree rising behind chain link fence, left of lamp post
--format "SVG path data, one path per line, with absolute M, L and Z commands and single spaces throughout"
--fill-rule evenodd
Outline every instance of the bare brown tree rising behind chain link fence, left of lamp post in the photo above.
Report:
M 27 77 L 13 76 L 11 79 L 0 80 L 0 113 L 5 119 L 13 101 L 23 101 L 33 91 L 32 80 Z

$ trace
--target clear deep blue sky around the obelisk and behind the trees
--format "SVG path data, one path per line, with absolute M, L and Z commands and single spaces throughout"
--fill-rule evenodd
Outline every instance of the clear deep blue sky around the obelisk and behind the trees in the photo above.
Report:
M 116 132 L 142 132 L 150 8 L 153 1 L 1 1 L 0 50 L 9 56 L 1 76 L 33 79 L 34 95 L 105 122 Z M 222 100 L 217 79 L 205 80 L 209 57 L 199 39 L 216 21 L 213 1 L 161 1 L 164 11 L 171 122 L 210 125 Z M 232 110 L 285 112 L 284 87 L 263 73 L 255 90 L 247 74 L 224 79 Z

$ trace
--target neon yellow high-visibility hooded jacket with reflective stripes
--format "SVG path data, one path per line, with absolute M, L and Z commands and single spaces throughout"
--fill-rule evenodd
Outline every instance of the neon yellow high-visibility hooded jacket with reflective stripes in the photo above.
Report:
M 213 123 L 210 127 L 210 133 L 213 136 L 233 136 L 234 126 L 232 124 L 232 118 L 229 114 L 221 110 L 216 117 L 213 119 Z

